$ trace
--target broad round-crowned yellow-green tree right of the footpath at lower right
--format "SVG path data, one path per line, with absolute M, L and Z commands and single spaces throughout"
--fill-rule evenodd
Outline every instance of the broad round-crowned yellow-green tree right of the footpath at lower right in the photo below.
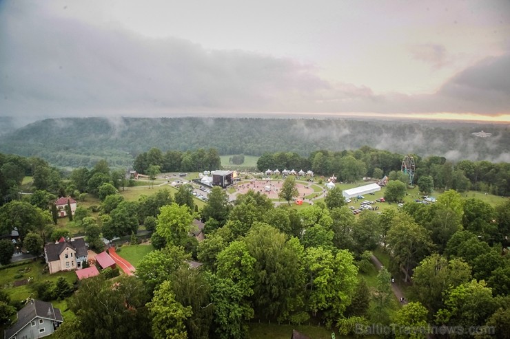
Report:
M 471 267 L 464 261 L 448 261 L 444 256 L 431 254 L 414 269 L 411 294 L 434 314 L 444 307 L 442 296 L 449 287 L 467 283 L 470 279 Z

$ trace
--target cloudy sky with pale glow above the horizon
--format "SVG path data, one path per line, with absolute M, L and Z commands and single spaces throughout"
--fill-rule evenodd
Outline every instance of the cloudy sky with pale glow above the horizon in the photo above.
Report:
M 510 122 L 510 1 L 0 1 L 0 116 Z

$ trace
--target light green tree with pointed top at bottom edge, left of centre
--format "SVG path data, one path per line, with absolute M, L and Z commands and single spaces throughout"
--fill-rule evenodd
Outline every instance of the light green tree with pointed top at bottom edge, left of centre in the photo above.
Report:
M 147 303 L 152 318 L 152 333 L 156 339 L 187 339 L 185 321 L 192 316 L 192 307 L 175 300 L 172 283 L 164 281 Z

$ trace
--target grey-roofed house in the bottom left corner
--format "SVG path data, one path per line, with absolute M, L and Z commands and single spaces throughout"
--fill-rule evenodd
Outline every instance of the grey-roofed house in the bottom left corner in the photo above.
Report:
M 52 303 L 30 299 L 18 311 L 18 320 L 4 331 L 6 339 L 43 338 L 50 336 L 63 322 L 60 309 Z

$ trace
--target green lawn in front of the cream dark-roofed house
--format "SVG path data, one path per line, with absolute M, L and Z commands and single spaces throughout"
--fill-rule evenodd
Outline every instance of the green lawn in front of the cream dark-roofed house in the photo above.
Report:
M 38 261 L 26 261 L 25 264 L 16 267 L 9 267 L 0 270 L 0 286 L 9 294 L 12 300 L 23 300 L 33 295 L 30 284 L 14 287 L 14 281 L 21 281 L 23 279 L 32 278 L 32 283 L 38 281 L 53 281 L 56 282 L 58 278 L 63 276 L 70 283 L 76 281 L 76 273 L 74 271 L 58 272 L 55 274 L 43 274 L 45 263 Z M 18 278 L 14 278 L 18 276 Z

